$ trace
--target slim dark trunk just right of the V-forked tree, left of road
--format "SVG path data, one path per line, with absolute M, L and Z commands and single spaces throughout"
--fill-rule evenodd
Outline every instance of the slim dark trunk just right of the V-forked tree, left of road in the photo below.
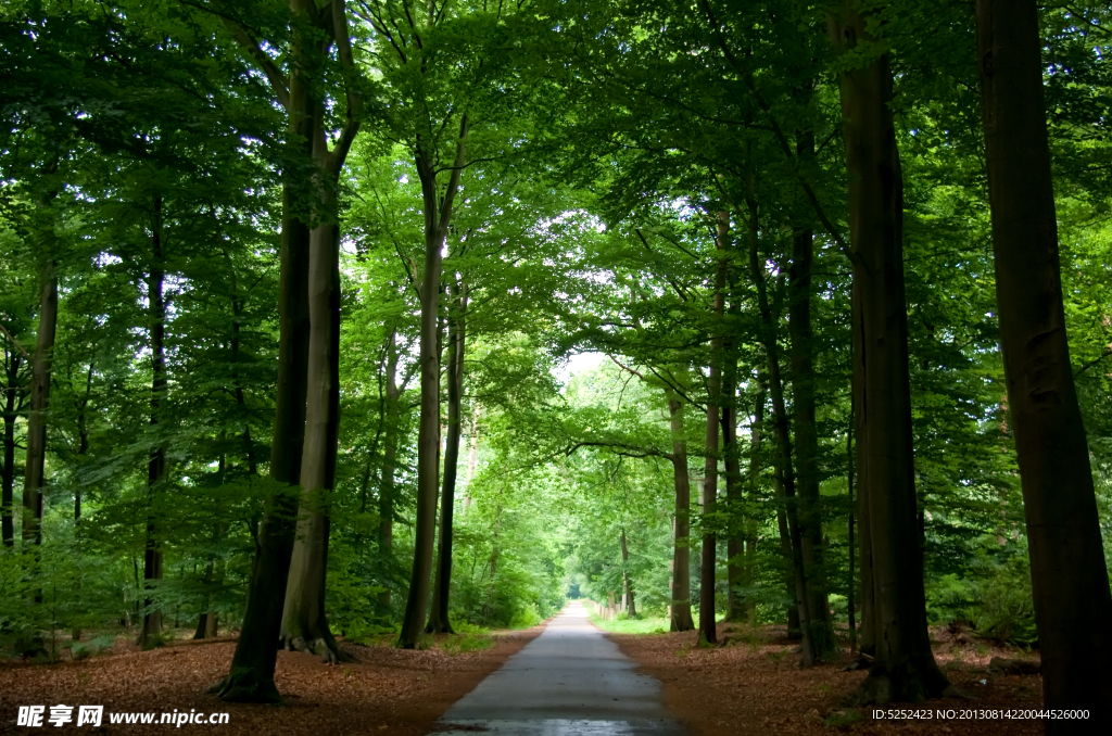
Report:
M 467 286 L 460 281 L 448 315 L 448 436 L 444 447 L 444 490 L 440 495 L 440 549 L 436 569 L 436 588 L 426 631 L 454 634 L 448 620 L 448 596 L 451 591 L 451 518 L 456 506 L 456 466 L 459 465 L 461 436 L 460 405 L 464 396 L 464 347 L 467 340 Z

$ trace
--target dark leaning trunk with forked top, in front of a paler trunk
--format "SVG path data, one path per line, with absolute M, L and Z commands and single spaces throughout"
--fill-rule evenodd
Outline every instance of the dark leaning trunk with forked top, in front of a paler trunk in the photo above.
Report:
M 289 0 L 291 16 L 288 79 L 264 53 L 244 26 L 222 17 L 232 36 L 264 71 L 288 116 L 290 157 L 282 188 L 281 284 L 279 285 L 278 401 L 271 442 L 270 476 L 277 490 L 267 501 L 259 525 L 258 555 L 251 573 L 244 629 L 231 662 L 231 673 L 210 690 L 226 700 L 278 702 L 274 669 L 278 656 L 286 580 L 292 556 L 297 498 L 290 486 L 301 480 L 305 444 L 306 382 L 308 374 L 308 268 L 309 230 L 328 192 L 326 181 L 336 181 L 350 146 L 358 135 L 363 98 L 351 53 L 347 9 L 344 0 L 319 8 L 314 0 Z M 322 31 L 322 33 L 321 33 Z M 321 38 L 324 36 L 324 39 Z M 324 42 L 321 42 L 324 41 Z M 344 70 L 347 96 L 344 128 L 328 150 L 320 100 L 312 91 L 322 86 L 322 62 L 331 53 Z M 306 191 L 316 190 L 315 196 Z M 334 220 L 324 219 L 330 223 Z M 335 239 L 335 235 L 334 235 Z M 338 294 L 338 289 L 336 290 Z M 338 330 L 336 330 L 338 334 Z M 326 461 L 325 465 L 328 465 Z

